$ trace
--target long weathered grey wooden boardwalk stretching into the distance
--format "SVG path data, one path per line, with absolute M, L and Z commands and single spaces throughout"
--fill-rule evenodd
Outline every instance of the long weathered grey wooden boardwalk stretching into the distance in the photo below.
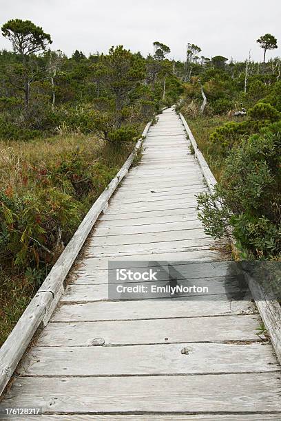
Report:
M 220 299 L 224 262 L 203 280 L 213 299 L 107 298 L 109 260 L 220 260 L 196 216 L 200 191 L 207 186 L 184 127 L 167 109 L 149 129 L 141 163 L 99 217 L 0 407 L 41 407 L 42 420 L 281 419 L 280 367 L 256 334 L 253 303 Z

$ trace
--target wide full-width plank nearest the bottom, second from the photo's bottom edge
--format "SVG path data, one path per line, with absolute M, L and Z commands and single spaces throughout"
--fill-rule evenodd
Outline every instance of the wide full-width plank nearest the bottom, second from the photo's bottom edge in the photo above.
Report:
M 127 412 L 145 413 L 145 420 L 151 419 L 150 413 L 171 413 L 172 420 L 187 419 L 183 418 L 185 413 L 190 415 L 188 419 L 204 420 L 200 418 L 203 415 L 192 418 L 195 416 L 192 414 L 198 412 L 207 413 L 209 417 L 213 416 L 211 413 L 215 414 L 214 418 L 207 419 L 228 420 L 225 413 L 241 412 L 247 415 L 240 414 L 239 419 L 247 420 L 244 416 L 251 413 L 261 412 L 264 417 L 267 416 L 265 411 L 280 413 L 279 395 L 280 380 L 270 373 L 122 378 L 23 377 L 15 382 L 8 402 L 9 407 L 42 407 L 48 413 L 110 413 L 111 417 L 114 416 L 111 420 L 116 419 L 115 413 L 122 413 L 120 419 L 125 420 Z M 222 418 L 216 418 L 220 413 Z M 76 420 L 76 415 L 70 416 Z M 137 415 L 133 416 L 138 420 Z M 257 421 L 265 419 L 263 415 L 262 418 L 256 416 Z

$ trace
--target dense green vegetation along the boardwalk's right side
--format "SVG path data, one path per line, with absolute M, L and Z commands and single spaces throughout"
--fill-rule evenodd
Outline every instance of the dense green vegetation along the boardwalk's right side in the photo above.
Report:
M 269 35 L 262 48 L 275 48 Z M 214 238 L 231 234 L 243 259 L 281 259 L 280 64 L 191 60 L 178 107 L 218 180 L 198 197 L 200 219 Z

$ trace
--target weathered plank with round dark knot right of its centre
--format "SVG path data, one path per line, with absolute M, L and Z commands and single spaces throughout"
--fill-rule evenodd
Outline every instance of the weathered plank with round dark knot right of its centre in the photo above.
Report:
M 125 347 L 32 347 L 22 376 L 140 376 L 278 371 L 270 345 L 188 343 Z M 206 380 L 205 380 L 206 382 Z M 268 392 L 268 389 L 267 389 Z M 280 389 L 279 389 L 280 392 Z

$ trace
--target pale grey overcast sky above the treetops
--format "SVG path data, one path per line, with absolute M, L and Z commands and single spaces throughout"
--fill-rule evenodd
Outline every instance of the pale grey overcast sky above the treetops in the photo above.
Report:
M 244 60 L 251 50 L 261 60 L 256 39 L 270 32 L 280 48 L 267 57 L 281 56 L 280 0 L 0 0 L 0 6 L 1 25 L 29 19 L 51 34 L 53 50 L 67 55 L 76 49 L 107 52 L 119 44 L 147 55 L 160 41 L 175 59 L 185 58 L 190 42 L 207 57 Z M 2 48 L 11 45 L 0 35 Z

